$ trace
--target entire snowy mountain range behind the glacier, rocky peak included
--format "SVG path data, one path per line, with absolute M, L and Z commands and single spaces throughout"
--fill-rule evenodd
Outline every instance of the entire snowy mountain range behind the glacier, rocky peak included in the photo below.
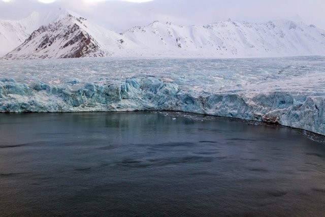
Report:
M 3 59 L 325 55 L 325 30 L 290 20 L 206 26 L 154 21 L 118 34 L 71 11 L 34 12 L 20 21 L 0 20 L 0 46 Z

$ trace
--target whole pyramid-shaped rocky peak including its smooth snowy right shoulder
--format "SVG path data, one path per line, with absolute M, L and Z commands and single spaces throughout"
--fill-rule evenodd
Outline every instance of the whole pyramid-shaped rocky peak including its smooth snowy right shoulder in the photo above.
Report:
M 128 42 L 124 36 L 95 25 L 73 12 L 68 12 L 56 22 L 35 30 L 4 58 L 111 56 L 127 45 L 132 46 L 133 43 Z

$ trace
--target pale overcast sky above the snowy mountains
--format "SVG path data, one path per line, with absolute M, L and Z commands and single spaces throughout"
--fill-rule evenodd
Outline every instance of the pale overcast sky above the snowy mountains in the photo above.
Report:
M 325 29 L 325 0 L 142 0 L 143 3 L 136 3 L 137 1 L 139 0 L 0 0 L 0 19 L 20 19 L 32 11 L 66 8 L 119 32 L 135 25 L 147 25 L 154 20 L 205 25 L 229 18 L 249 22 L 291 19 Z

